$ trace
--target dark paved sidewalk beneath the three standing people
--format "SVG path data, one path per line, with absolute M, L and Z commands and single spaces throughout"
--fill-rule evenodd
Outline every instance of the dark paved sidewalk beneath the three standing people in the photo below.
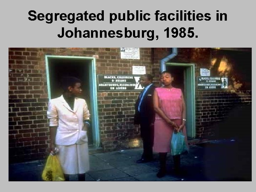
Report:
M 181 156 L 183 174 L 173 174 L 172 156 L 167 156 L 165 177 L 158 178 L 158 154 L 148 163 L 137 164 L 143 149 L 129 149 L 90 155 L 86 181 L 251 181 L 251 151 L 241 151 L 238 142 L 224 140 L 190 145 L 190 153 Z M 242 166 L 237 166 L 239 162 Z M 45 161 L 9 165 L 9 181 L 42 181 Z M 71 176 L 71 181 L 77 177 Z

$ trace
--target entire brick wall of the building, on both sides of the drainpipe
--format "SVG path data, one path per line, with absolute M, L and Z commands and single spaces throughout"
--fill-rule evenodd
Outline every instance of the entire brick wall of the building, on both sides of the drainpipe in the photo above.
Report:
M 47 155 L 50 141 L 46 117 L 46 54 L 95 57 L 97 74 L 132 74 L 133 65 L 146 66 L 146 73 L 153 74 L 154 84 L 159 86 L 159 63 L 171 50 L 140 48 L 140 60 L 129 60 L 120 58 L 119 48 L 9 48 L 9 162 L 42 159 Z M 195 76 L 199 76 L 200 68 L 211 68 L 214 75 L 225 75 L 230 80 L 226 91 L 196 89 L 197 138 L 216 135 L 214 125 L 228 118 L 234 107 L 251 105 L 250 54 L 238 57 L 235 56 L 238 52 L 178 48 L 178 55 L 170 62 L 194 63 Z M 134 146 L 133 142 L 141 146 L 138 142 L 140 130 L 133 125 L 138 94 L 98 92 L 99 129 L 104 151 Z

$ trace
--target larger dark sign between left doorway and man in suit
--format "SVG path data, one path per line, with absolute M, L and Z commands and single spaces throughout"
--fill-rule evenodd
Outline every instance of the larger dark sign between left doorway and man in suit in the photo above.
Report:
M 140 91 L 139 75 L 97 75 L 98 91 Z

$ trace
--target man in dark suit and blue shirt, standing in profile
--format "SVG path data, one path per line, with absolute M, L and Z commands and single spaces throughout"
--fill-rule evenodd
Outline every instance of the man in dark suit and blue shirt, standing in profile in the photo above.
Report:
M 142 158 L 137 163 L 149 162 L 153 160 L 154 143 L 154 121 L 155 111 L 153 106 L 153 93 L 155 86 L 152 84 L 153 77 L 145 74 L 140 77 L 140 84 L 144 86 L 135 103 L 134 124 L 140 125 L 140 136 L 143 140 Z

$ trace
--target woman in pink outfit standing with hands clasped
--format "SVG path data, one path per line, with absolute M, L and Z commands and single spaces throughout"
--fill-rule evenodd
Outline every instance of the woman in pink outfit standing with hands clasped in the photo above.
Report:
M 157 177 L 166 174 L 166 155 L 170 152 L 170 142 L 174 131 L 182 131 L 186 136 L 186 106 L 181 89 L 172 87 L 173 77 L 170 72 L 161 73 L 163 87 L 155 89 L 154 109 L 155 132 L 153 151 L 159 153 L 160 170 Z M 186 136 L 187 143 L 187 136 Z M 179 173 L 180 155 L 173 156 L 175 173 Z

